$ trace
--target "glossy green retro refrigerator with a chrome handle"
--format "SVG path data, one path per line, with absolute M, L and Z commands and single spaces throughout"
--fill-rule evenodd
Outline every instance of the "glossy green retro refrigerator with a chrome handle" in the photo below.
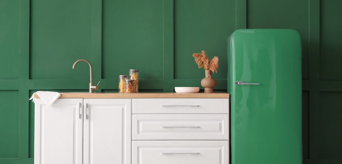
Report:
M 292 29 L 229 37 L 232 164 L 302 163 L 301 52 Z

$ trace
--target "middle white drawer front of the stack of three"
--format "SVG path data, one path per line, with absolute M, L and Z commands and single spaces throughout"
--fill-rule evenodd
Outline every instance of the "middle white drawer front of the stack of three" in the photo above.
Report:
M 228 140 L 228 114 L 133 114 L 132 140 Z

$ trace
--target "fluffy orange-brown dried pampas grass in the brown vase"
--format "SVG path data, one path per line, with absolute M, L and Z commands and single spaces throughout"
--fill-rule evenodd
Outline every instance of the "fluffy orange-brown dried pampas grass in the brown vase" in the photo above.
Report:
M 217 73 L 217 68 L 219 67 L 219 58 L 214 56 L 214 58 L 209 61 L 206 51 L 201 51 L 202 53 L 194 53 L 195 62 L 198 68 L 204 68 L 205 70 L 210 70 Z

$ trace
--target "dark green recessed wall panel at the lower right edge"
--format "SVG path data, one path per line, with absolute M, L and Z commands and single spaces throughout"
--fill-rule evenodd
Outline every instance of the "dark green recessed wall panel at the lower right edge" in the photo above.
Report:
M 320 158 L 342 160 L 342 92 L 320 93 Z

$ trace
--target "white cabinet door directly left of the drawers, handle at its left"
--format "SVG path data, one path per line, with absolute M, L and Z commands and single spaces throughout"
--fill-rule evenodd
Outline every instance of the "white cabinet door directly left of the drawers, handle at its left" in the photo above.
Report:
M 83 101 L 83 164 L 130 164 L 131 99 Z

